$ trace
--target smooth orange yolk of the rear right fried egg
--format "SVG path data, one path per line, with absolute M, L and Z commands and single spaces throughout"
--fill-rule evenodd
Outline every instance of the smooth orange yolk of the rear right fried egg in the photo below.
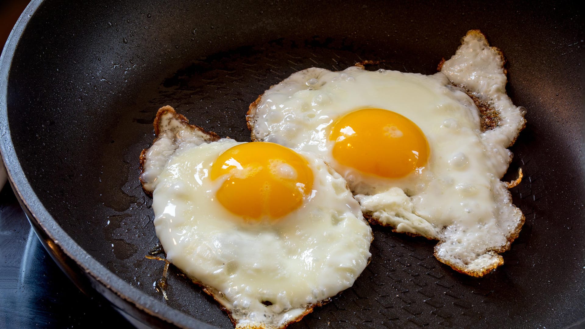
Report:
M 405 116 L 364 108 L 333 122 L 333 157 L 341 165 L 380 177 L 398 178 L 424 167 L 429 145 L 424 133 Z

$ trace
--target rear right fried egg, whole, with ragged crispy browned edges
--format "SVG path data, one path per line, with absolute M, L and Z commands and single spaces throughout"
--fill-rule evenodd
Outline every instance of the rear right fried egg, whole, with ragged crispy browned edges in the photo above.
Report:
M 482 276 L 524 222 L 500 181 L 525 124 L 503 64 L 470 31 L 432 76 L 308 68 L 260 95 L 248 125 L 254 140 L 321 155 L 371 222 L 438 239 L 439 261 Z M 482 129 L 488 120 L 497 124 Z

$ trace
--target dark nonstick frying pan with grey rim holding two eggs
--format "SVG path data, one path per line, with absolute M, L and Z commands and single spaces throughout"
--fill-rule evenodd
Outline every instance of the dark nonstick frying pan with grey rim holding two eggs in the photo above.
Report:
M 291 328 L 564 328 L 585 318 L 583 15 L 549 2 L 33 1 L 1 58 L 2 157 L 33 228 L 87 293 L 138 326 L 231 328 L 163 262 L 138 156 L 172 105 L 249 140 L 247 105 L 297 70 L 361 60 L 432 74 L 467 30 L 503 50 L 508 94 L 528 109 L 511 190 L 526 224 L 481 279 L 432 256 L 435 242 L 374 227 L 351 289 Z M 373 69 L 377 69 L 374 67 Z M 509 179 L 511 177 L 505 177 Z

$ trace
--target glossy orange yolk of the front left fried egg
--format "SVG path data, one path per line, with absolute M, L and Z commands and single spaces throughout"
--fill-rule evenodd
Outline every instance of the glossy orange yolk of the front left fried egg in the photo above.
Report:
M 269 142 L 243 143 L 219 155 L 212 180 L 223 177 L 216 197 L 246 220 L 277 220 L 299 208 L 311 193 L 313 172 L 294 150 Z

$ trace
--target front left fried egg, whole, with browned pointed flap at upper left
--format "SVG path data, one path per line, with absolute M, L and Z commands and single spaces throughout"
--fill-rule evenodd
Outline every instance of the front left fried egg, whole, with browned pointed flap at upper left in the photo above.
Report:
M 236 328 L 283 328 L 353 285 L 373 235 L 346 181 L 319 157 L 219 139 L 170 107 L 141 156 L 167 260 Z

